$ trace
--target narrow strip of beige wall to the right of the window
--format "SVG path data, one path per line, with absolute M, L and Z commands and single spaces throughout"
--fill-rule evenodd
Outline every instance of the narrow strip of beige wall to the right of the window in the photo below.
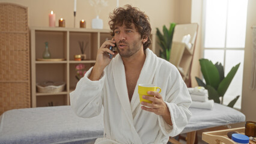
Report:
M 241 111 L 246 116 L 246 121 L 256 122 L 256 90 L 249 89 L 251 83 L 252 69 L 252 28 L 256 26 L 256 1 L 248 0 L 247 26 L 246 26 L 246 41 L 245 41 L 245 63 L 243 66 L 243 90 L 242 90 L 242 109 Z

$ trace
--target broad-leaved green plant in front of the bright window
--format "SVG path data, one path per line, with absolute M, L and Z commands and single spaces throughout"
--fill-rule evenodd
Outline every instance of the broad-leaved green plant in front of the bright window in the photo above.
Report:
M 236 74 L 239 64 L 232 67 L 227 76 L 224 76 L 224 68 L 220 62 L 216 62 L 214 65 L 212 61 L 208 59 L 200 59 L 201 72 L 203 73 L 206 83 L 198 77 L 195 77 L 199 86 L 204 86 L 208 90 L 209 100 L 214 100 L 215 103 L 223 103 L 223 97 L 225 92 L 230 86 L 230 83 Z M 230 101 L 229 107 L 233 107 L 240 95 L 237 95 L 234 100 Z M 221 100 L 220 100 L 221 98 Z

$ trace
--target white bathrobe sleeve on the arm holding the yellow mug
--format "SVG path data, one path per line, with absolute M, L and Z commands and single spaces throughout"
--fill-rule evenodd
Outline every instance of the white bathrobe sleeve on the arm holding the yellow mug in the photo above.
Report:
M 159 116 L 159 125 L 163 134 L 166 136 L 176 136 L 186 127 L 192 115 L 189 111 L 192 100 L 180 73 L 177 68 L 172 67 L 172 65 L 166 83 L 165 103 L 171 115 L 172 126 L 168 125 L 162 116 Z

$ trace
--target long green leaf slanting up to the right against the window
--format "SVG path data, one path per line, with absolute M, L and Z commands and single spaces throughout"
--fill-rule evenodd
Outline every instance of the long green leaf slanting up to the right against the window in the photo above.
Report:
M 236 74 L 238 68 L 239 68 L 239 64 L 237 64 L 236 66 L 232 67 L 230 72 L 227 74 L 227 76 L 221 81 L 221 83 L 219 83 L 219 87 L 218 87 L 218 93 L 221 97 L 224 96 L 225 92 L 228 89 L 228 86 L 230 86 L 230 83 L 232 81 L 232 79 L 234 78 L 234 75 Z

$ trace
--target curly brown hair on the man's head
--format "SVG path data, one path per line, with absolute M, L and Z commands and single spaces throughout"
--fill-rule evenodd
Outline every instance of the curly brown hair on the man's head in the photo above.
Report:
M 139 8 L 132 7 L 131 5 L 124 5 L 124 7 L 116 8 L 113 13 L 109 14 L 109 26 L 111 29 L 111 35 L 114 37 L 115 26 L 126 25 L 129 27 L 132 23 L 135 25 L 135 29 L 141 34 L 141 38 L 148 38 L 143 44 L 143 49 L 147 49 L 151 44 L 150 34 L 151 26 L 148 16 L 139 10 Z

